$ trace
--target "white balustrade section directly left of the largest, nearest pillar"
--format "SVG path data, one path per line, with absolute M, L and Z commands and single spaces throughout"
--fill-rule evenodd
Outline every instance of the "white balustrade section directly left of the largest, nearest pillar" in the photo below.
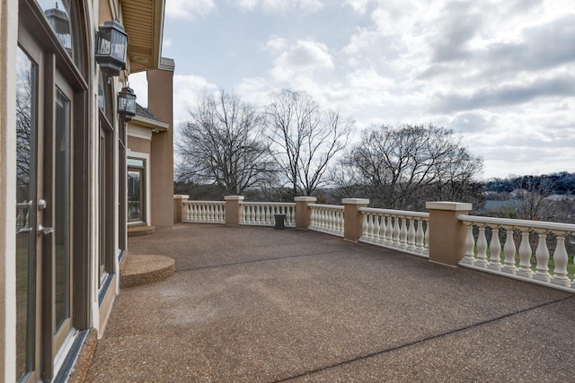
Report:
M 360 207 L 360 242 L 429 257 L 429 213 Z

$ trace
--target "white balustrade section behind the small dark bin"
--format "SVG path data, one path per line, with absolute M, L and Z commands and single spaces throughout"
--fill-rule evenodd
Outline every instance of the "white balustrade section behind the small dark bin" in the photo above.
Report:
M 242 202 L 241 225 L 273 226 L 276 214 L 286 214 L 286 227 L 296 227 L 296 204 L 283 202 Z

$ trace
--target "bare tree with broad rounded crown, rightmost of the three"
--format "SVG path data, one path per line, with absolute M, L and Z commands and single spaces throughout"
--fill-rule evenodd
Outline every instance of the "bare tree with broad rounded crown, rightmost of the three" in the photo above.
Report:
M 421 209 L 426 201 L 439 199 L 470 201 L 481 191 L 473 178 L 482 170 L 482 159 L 451 130 L 438 126 L 372 126 L 346 153 L 342 166 L 362 196 L 386 208 Z

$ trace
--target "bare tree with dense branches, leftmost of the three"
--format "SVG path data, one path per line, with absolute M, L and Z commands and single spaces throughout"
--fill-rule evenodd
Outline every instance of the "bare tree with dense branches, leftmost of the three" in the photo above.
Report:
M 273 161 L 263 122 L 263 115 L 237 94 L 204 93 L 181 126 L 179 180 L 215 184 L 238 195 L 265 181 Z

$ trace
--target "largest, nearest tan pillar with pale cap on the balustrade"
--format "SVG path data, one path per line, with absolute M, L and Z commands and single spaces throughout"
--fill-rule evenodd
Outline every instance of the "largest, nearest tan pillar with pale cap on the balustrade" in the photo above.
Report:
M 429 261 L 456 266 L 465 254 L 465 225 L 457 217 L 473 205 L 459 202 L 428 202 Z

